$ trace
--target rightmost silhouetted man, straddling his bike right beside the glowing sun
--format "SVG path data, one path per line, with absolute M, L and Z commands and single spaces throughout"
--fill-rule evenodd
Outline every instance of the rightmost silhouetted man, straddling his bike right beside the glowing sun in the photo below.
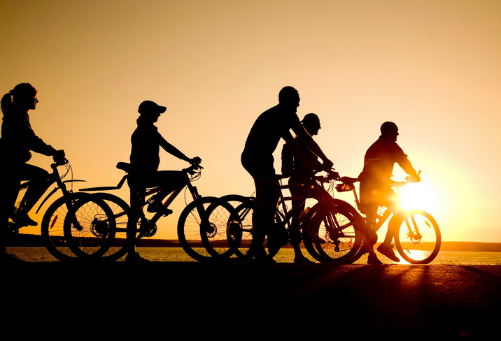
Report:
M 364 208 L 362 213 L 367 217 L 367 226 L 369 230 L 376 224 L 377 210 L 379 206 L 392 208 L 393 212 L 398 212 L 398 203 L 395 191 L 391 189 L 391 176 L 393 166 L 397 163 L 405 173 L 411 175 L 411 182 L 420 182 L 421 179 L 412 167 L 411 162 L 407 159 L 402 148 L 397 145 L 398 127 L 393 122 L 384 122 L 381 125 L 381 136 L 374 142 L 364 158 L 364 168 L 358 176 L 360 179 L 360 205 Z M 395 213 L 394 213 L 395 214 Z M 397 219 L 390 220 L 386 237 L 381 245 L 377 248 L 381 254 L 384 254 L 392 261 L 400 261 L 393 252 L 391 244 L 395 233 L 400 227 Z M 374 245 L 377 242 L 377 235 L 372 236 Z M 370 247 L 367 263 L 381 264 L 381 261 L 374 252 L 374 247 Z

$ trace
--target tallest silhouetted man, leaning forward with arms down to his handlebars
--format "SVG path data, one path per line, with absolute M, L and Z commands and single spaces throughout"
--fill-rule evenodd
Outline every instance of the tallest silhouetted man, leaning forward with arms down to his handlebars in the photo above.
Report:
M 304 165 L 313 168 L 311 161 L 306 161 L 297 142 L 292 138 L 290 129 L 306 147 L 323 160 L 326 168 L 332 167 L 332 161 L 325 157 L 320 147 L 299 122 L 297 117 L 299 93 L 293 87 L 284 87 L 278 94 L 278 105 L 257 117 L 248 134 L 244 152 L 241 154 L 242 166 L 251 174 L 255 184 L 255 204 L 253 213 L 253 240 L 248 249 L 248 258 L 257 261 L 274 262 L 264 250 L 263 243 L 269 231 L 273 230 L 276 205 L 280 188 L 274 169 L 273 152 L 278 141 L 283 138 L 295 157 Z M 314 163 L 314 166 L 318 161 Z M 268 236 L 270 237 L 270 235 Z

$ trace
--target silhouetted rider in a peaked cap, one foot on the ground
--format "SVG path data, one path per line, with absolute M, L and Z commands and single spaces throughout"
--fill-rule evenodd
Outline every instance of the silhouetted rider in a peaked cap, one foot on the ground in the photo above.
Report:
M 162 195 L 157 194 L 155 200 L 148 205 L 148 212 L 162 212 L 163 215 L 172 213 L 169 208 L 165 208 L 162 204 L 163 199 L 169 194 L 169 188 L 173 190 L 177 184 L 185 181 L 185 175 L 178 170 L 158 170 L 160 165 L 160 147 L 169 154 L 178 157 L 181 160 L 187 161 L 190 164 L 199 164 L 202 159 L 195 157 L 190 159 L 186 157 L 176 147 L 165 140 L 158 132 L 155 122 L 158 121 L 160 114 L 167 110 L 164 106 L 159 106 L 153 101 L 143 101 L 139 105 L 139 118 L 137 119 L 137 128 L 132 133 L 131 143 L 132 150 L 130 153 L 131 170 L 129 171 L 128 184 L 130 187 L 130 201 L 132 208 L 140 207 L 138 212 L 142 214 L 144 205 L 144 196 L 148 187 L 165 187 L 162 190 Z M 139 217 L 136 217 L 139 219 Z M 134 225 L 134 224 L 132 224 Z M 127 231 L 127 240 L 130 249 L 127 254 L 126 261 L 147 261 L 136 252 L 136 230 Z

